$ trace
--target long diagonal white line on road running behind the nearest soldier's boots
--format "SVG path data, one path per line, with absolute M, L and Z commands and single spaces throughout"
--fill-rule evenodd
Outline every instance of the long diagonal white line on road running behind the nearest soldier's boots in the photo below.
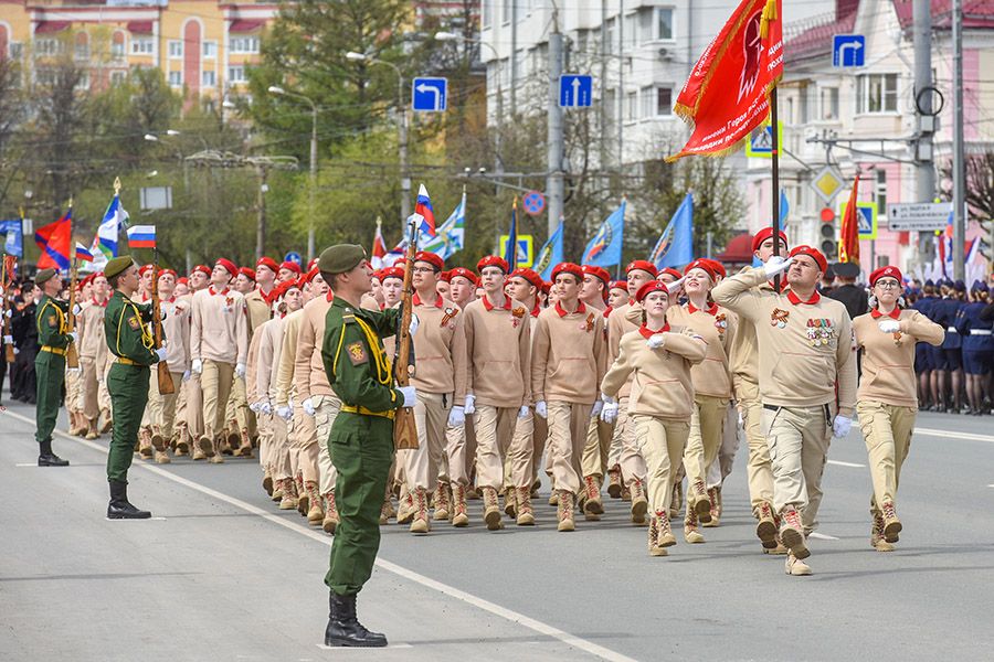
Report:
M 13 418 L 21 420 L 23 423 L 27 423 L 28 425 L 30 425 L 32 427 L 34 427 L 34 425 L 35 425 L 35 421 L 33 419 L 28 418 L 27 416 L 17 414 L 14 412 L 11 412 L 9 409 L 2 412 L 2 414 L 12 416 Z M 94 441 L 89 441 L 88 439 L 80 439 L 78 437 L 73 437 L 66 433 L 63 433 L 62 430 L 54 430 L 53 434 L 62 437 L 63 439 L 68 439 L 70 441 L 75 441 L 76 444 L 81 444 L 87 448 L 91 448 L 93 450 L 96 450 L 98 452 L 107 455 L 107 447 L 101 446 L 99 444 L 95 444 Z M 318 542 L 325 546 L 328 546 L 328 547 L 331 546 L 332 538 L 330 536 L 326 535 L 324 532 L 318 533 L 317 531 L 306 528 L 303 525 L 297 524 L 292 520 L 285 520 L 283 517 L 276 516 L 267 511 L 264 511 L 260 508 L 252 505 L 251 503 L 242 501 L 241 499 L 235 499 L 234 496 L 229 496 L 228 494 L 224 494 L 223 492 L 219 492 L 216 490 L 208 488 L 207 485 L 202 485 L 198 482 L 193 482 L 192 480 L 189 480 L 181 476 L 177 476 L 176 473 L 170 473 L 169 471 L 166 471 L 165 469 L 161 469 L 154 465 L 136 463 L 136 465 L 133 465 L 133 467 L 138 467 L 139 469 L 144 469 L 146 471 L 151 471 L 156 476 L 165 478 L 166 480 L 171 480 L 172 482 L 179 483 L 186 488 L 189 488 L 191 490 L 200 492 L 201 494 L 205 494 L 212 499 L 216 499 L 218 501 L 223 501 L 224 503 L 228 503 L 229 505 L 233 505 L 234 508 L 237 508 L 247 513 L 251 513 L 253 515 L 262 517 L 263 520 L 266 520 L 267 522 L 269 522 L 272 524 L 276 524 L 277 526 L 283 526 L 284 528 L 288 528 L 289 531 L 293 531 L 300 535 L 307 536 L 310 540 Z M 419 573 L 410 570 L 403 566 L 396 565 L 395 563 L 391 563 L 391 562 L 384 560 L 382 558 L 377 558 L 376 565 L 377 565 L 377 567 L 379 567 L 383 570 L 387 570 L 388 573 L 393 573 L 394 575 L 398 575 L 405 579 L 410 579 L 411 581 L 414 581 L 415 584 L 420 584 L 421 586 L 424 586 L 426 588 L 432 588 L 441 594 L 447 595 L 459 601 L 466 602 L 467 605 L 472 605 L 473 607 L 476 607 L 484 611 L 488 611 L 489 613 L 493 613 L 494 616 L 499 616 L 500 618 L 504 618 L 512 623 L 517 623 L 519 626 L 525 626 L 526 628 L 528 628 L 535 632 L 538 632 L 539 634 L 544 634 L 546 637 L 557 639 L 557 640 L 565 643 L 567 645 L 571 645 L 573 648 L 580 649 L 586 653 L 590 653 L 591 655 L 594 655 L 595 658 L 600 658 L 602 660 L 607 660 L 609 662 L 636 662 L 634 658 L 628 658 L 627 655 L 612 651 L 611 649 L 606 649 L 606 648 L 599 645 L 592 641 L 588 641 L 588 640 L 577 637 L 574 634 L 570 634 L 569 632 L 564 632 L 563 630 L 560 630 L 559 628 L 554 628 L 552 626 L 543 623 L 533 618 L 529 618 L 529 617 L 525 616 L 524 613 L 519 613 L 511 609 L 507 609 L 505 607 L 501 607 L 500 605 L 490 602 L 489 600 L 478 598 L 472 594 L 468 594 L 468 592 L 459 590 L 455 587 L 448 586 L 447 584 L 442 584 L 441 581 L 435 581 L 431 577 L 425 577 L 424 575 L 421 575 Z

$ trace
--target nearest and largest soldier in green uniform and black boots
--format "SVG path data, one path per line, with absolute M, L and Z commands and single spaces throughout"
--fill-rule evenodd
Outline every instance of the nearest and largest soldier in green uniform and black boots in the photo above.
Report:
M 325 644 L 383 647 L 387 638 L 356 618 L 356 594 L 369 579 L 380 547 L 394 413 L 413 407 L 416 394 L 411 386 L 393 386 L 383 351 L 382 339 L 395 333 L 400 311 L 373 312 L 358 306 L 371 289 L 366 250 L 351 244 L 331 246 L 321 253 L 318 266 L 335 297 L 326 317 L 321 359 L 328 383 L 341 399 L 341 412 L 325 440 L 338 470 L 335 501 L 341 517 L 325 576 L 331 589 Z

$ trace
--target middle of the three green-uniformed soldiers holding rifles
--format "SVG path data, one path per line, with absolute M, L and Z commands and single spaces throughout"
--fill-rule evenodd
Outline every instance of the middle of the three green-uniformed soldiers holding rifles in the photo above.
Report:
M 130 297 L 138 290 L 138 266 L 130 256 L 115 257 L 104 275 L 114 296 L 104 312 L 104 333 L 110 353 L 117 356 L 107 374 L 107 391 L 114 410 L 110 452 L 107 455 L 107 480 L 110 483 L 110 520 L 144 520 L 151 516 L 128 501 L 128 468 L 141 415 L 148 404 L 149 365 L 166 360 L 166 348 L 155 349 L 149 329 L 152 310 L 148 303 L 135 303 Z

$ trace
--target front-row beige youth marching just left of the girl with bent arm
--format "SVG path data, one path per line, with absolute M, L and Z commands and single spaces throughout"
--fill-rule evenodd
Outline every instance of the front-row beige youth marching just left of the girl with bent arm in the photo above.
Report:
M 573 499 L 582 489 L 580 460 L 599 397 L 607 349 L 604 316 L 580 301 L 582 269 L 561 263 L 552 269 L 557 302 L 539 313 L 531 357 L 535 413 L 548 419 L 558 528 L 573 531 Z

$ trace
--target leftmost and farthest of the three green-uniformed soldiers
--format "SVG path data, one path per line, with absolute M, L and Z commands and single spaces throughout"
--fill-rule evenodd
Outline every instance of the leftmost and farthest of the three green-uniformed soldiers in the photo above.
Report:
M 68 305 L 55 297 L 62 290 L 62 279 L 55 269 L 42 269 L 34 277 L 42 298 L 34 313 L 38 329 L 38 356 L 34 371 L 38 374 L 38 406 L 34 409 L 38 430 L 39 467 L 67 467 L 68 461 L 52 452 L 52 431 L 59 418 L 62 386 L 65 382 L 65 350 L 78 338 L 68 331 Z

